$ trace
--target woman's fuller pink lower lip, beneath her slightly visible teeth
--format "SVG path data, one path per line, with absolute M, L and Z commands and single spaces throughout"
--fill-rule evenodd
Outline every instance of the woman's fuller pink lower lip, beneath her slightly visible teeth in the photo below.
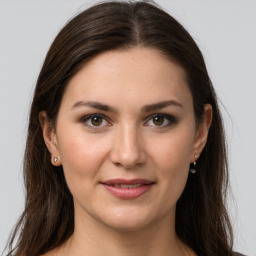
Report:
M 106 184 L 103 184 L 103 186 L 115 197 L 120 199 L 134 199 L 148 192 L 153 186 L 153 183 L 145 184 L 137 188 L 117 188 Z

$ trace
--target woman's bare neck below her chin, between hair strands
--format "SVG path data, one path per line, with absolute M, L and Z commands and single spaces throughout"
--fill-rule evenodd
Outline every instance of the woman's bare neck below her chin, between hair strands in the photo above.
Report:
M 138 230 L 114 229 L 88 215 L 75 220 L 75 232 L 64 246 L 66 253 L 62 255 L 188 255 L 175 234 L 175 216 L 165 216 Z

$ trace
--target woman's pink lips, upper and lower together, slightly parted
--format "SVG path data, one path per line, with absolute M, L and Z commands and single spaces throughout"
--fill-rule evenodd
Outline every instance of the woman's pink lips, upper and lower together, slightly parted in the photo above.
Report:
M 140 197 L 146 192 L 148 192 L 152 188 L 152 186 L 155 184 L 155 182 L 146 180 L 146 179 L 132 179 L 132 180 L 112 179 L 112 180 L 101 182 L 101 184 L 111 195 L 120 199 L 129 200 L 129 199 L 135 199 L 137 197 Z M 134 188 L 121 188 L 121 187 L 114 186 L 114 185 L 135 185 L 135 184 L 140 184 L 140 186 L 134 187 Z

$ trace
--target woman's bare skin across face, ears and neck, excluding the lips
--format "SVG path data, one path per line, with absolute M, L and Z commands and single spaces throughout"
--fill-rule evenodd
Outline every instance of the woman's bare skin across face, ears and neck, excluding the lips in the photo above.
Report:
M 111 110 L 83 104 L 89 101 Z M 172 104 L 145 112 L 146 105 L 163 101 Z M 171 121 L 154 121 L 159 113 Z M 92 114 L 105 119 L 93 125 L 87 118 Z M 63 166 L 75 207 L 73 236 L 47 255 L 195 255 L 176 237 L 175 210 L 189 165 L 207 141 L 212 108 L 205 105 L 196 125 L 182 67 L 155 49 L 102 53 L 69 82 L 56 127 L 44 111 L 39 118 L 52 164 Z M 101 184 L 115 178 L 155 184 L 124 200 Z

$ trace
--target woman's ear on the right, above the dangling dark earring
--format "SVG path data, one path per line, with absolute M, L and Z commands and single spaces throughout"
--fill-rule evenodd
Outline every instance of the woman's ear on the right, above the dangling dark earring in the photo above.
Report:
M 203 151 L 207 142 L 208 132 L 212 123 L 212 106 L 210 104 L 204 105 L 203 120 L 200 121 L 193 145 L 193 152 L 190 158 L 190 162 L 194 162 Z

